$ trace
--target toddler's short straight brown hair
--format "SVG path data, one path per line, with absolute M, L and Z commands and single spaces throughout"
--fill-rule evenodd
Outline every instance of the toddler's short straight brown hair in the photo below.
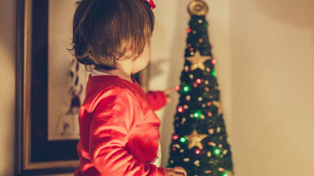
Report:
M 154 14 L 142 0 L 82 0 L 73 19 L 74 56 L 82 64 L 112 70 L 117 60 L 143 53 Z M 127 49 L 131 54 L 125 56 Z

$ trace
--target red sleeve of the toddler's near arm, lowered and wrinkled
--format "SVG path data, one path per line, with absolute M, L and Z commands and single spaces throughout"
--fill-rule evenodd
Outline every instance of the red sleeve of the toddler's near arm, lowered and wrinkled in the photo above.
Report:
M 103 93 L 99 100 L 90 123 L 89 154 L 95 168 L 102 175 L 164 176 L 165 168 L 139 163 L 124 150 L 128 134 L 140 120 L 133 94 L 114 88 Z

